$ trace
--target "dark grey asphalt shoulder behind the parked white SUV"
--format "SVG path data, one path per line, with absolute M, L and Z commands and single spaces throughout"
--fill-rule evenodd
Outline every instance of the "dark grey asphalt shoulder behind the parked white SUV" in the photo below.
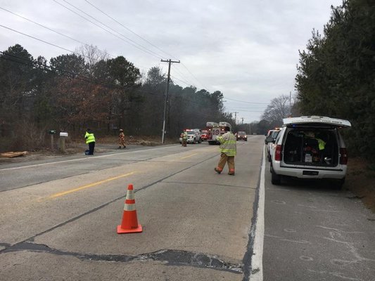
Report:
M 265 174 L 265 281 L 375 280 L 375 214 L 321 181 Z

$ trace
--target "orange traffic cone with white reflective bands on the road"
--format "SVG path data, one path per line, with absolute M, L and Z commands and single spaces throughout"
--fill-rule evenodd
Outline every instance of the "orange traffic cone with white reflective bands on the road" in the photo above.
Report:
M 122 222 L 117 226 L 117 233 L 141 233 L 142 226 L 138 224 L 136 218 L 136 207 L 134 200 L 133 185 L 127 185 L 127 197 L 125 200 L 124 214 L 122 214 Z

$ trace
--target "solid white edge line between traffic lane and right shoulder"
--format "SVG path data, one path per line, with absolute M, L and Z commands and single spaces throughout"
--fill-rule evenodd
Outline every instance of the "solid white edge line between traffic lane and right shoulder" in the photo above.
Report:
M 257 222 L 255 224 L 254 252 L 251 260 L 250 281 L 263 280 L 263 242 L 265 240 L 265 150 L 263 150 L 262 171 L 260 172 Z

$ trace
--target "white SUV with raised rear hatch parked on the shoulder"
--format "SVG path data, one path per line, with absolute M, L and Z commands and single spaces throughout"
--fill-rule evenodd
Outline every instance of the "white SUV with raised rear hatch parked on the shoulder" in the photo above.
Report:
M 333 179 L 341 188 L 345 181 L 348 155 L 339 128 L 348 120 L 320 116 L 283 119 L 284 126 L 272 146 L 272 184 L 283 176 Z

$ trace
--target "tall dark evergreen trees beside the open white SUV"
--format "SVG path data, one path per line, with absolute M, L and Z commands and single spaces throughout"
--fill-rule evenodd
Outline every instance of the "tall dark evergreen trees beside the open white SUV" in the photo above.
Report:
M 375 2 L 332 7 L 323 34 L 312 31 L 295 77 L 303 115 L 348 119 L 350 151 L 375 162 Z

